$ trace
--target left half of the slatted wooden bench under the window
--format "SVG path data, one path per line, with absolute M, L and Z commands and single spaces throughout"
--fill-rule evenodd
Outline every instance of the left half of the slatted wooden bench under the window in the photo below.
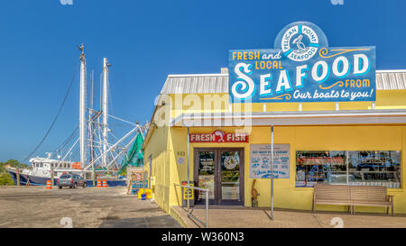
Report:
M 351 211 L 352 201 L 349 186 L 315 185 L 313 194 L 313 213 L 316 205 L 347 205 Z

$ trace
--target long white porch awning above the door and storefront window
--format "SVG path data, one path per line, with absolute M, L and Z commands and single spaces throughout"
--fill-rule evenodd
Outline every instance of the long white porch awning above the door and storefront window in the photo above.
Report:
M 171 126 L 262 126 L 406 123 L 406 110 L 337 110 L 180 114 Z

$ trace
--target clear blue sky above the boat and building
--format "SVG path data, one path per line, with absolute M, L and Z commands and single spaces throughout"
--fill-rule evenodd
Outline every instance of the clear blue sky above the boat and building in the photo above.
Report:
M 405 9 L 403 0 L 3 1 L 0 161 L 23 160 L 41 141 L 78 66 L 82 42 L 96 84 L 102 59 L 113 65 L 111 114 L 144 123 L 168 74 L 217 73 L 228 65 L 228 50 L 272 48 L 292 22 L 316 23 L 330 47 L 376 46 L 378 69 L 406 68 Z M 54 150 L 77 124 L 78 77 L 36 155 Z

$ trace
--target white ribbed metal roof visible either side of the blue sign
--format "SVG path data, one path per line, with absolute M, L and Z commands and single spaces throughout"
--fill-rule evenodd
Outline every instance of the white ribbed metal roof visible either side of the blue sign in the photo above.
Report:
M 406 69 L 376 70 L 377 90 L 406 89 Z M 169 75 L 161 94 L 228 93 L 228 74 Z

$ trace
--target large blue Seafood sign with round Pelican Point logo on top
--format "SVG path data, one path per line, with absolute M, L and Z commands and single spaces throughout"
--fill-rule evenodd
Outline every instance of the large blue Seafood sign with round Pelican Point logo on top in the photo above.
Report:
M 291 23 L 274 49 L 230 50 L 232 102 L 375 101 L 375 47 L 330 48 L 313 23 Z

